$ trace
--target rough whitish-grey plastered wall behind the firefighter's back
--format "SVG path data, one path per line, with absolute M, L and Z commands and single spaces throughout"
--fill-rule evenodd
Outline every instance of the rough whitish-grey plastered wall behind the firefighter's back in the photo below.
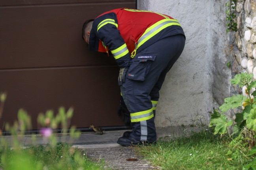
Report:
M 209 121 L 216 103 L 230 97 L 226 63 L 225 1 L 137 0 L 137 8 L 170 15 L 186 34 L 186 45 L 160 91 L 156 127 Z

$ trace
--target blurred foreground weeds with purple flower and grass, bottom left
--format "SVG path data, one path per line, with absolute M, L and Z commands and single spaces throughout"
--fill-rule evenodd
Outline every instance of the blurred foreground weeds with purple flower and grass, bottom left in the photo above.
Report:
M 0 93 L 0 117 L 6 93 Z M 1 136 L 0 144 L 0 170 L 102 170 L 104 162 L 94 163 L 90 161 L 85 152 L 72 147 L 67 142 L 58 142 L 53 129 L 62 128 L 63 133 L 68 132 L 70 119 L 73 116 L 73 108 L 67 111 L 60 107 L 55 115 L 52 110 L 38 116 L 38 127 L 47 145 L 37 145 L 35 134 L 31 135 L 33 146 L 25 147 L 23 144 L 26 130 L 30 129 L 31 118 L 21 109 L 18 112 L 18 120 L 13 125 L 6 124 L 5 128 L 12 135 L 12 143 Z M 1 131 L 2 132 L 2 131 Z M 2 133 L 1 133 L 2 134 Z M 75 127 L 69 128 L 69 135 L 78 138 L 79 132 Z M 58 135 L 59 136 L 59 135 Z M 65 135 L 63 135 L 65 137 Z M 70 143 L 71 141 L 69 141 Z

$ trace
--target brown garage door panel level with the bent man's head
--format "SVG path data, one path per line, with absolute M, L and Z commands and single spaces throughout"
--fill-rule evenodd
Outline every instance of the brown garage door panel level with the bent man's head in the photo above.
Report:
M 115 64 L 88 51 L 81 29 L 102 9 L 121 6 L 134 7 L 134 2 L 0 7 L 0 69 Z

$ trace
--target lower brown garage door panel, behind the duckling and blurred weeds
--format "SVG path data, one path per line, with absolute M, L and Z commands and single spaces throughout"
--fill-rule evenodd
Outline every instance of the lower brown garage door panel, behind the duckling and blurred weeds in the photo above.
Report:
M 37 129 L 37 115 L 49 109 L 56 113 L 60 106 L 75 109 L 71 124 L 77 127 L 97 122 L 123 125 L 117 116 L 118 71 L 114 66 L 0 71 L 0 92 L 8 93 L 0 125 L 13 122 L 19 108 L 24 108 Z

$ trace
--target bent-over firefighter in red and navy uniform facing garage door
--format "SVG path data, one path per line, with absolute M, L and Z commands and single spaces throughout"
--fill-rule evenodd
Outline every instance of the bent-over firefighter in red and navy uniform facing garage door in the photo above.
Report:
M 113 56 L 120 67 L 119 112 L 129 117 L 132 131 L 125 132 L 117 143 L 132 146 L 156 142 L 154 118 L 159 90 L 185 44 L 179 22 L 152 11 L 113 9 L 86 21 L 82 37 L 90 50 Z

